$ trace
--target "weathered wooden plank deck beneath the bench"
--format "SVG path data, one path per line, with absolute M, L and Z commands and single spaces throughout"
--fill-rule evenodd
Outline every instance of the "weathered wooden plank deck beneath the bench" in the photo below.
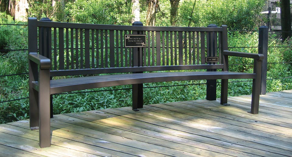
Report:
M 39 148 L 29 121 L 0 125 L 0 156 L 292 156 L 292 90 L 55 115 L 52 145 Z

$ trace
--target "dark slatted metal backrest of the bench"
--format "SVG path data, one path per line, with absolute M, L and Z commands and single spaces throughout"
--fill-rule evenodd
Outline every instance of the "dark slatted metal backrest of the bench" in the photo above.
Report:
M 51 76 L 222 69 L 227 26 L 119 26 L 29 18 L 29 53 L 50 58 Z M 125 47 L 125 34 L 145 34 L 146 47 Z M 219 61 L 206 63 L 206 57 Z

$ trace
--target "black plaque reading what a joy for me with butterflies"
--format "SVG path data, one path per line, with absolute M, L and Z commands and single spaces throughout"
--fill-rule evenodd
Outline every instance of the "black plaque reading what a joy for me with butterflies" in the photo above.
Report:
M 146 47 L 146 34 L 125 34 L 125 47 Z

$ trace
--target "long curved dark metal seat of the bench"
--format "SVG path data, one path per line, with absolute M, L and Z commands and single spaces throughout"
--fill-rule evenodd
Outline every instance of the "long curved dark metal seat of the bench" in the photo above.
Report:
M 211 77 L 210 77 L 211 76 Z M 50 81 L 50 93 L 129 85 L 149 82 L 204 80 L 204 79 L 254 79 L 254 73 L 242 72 L 154 72 L 118 75 L 99 75 Z

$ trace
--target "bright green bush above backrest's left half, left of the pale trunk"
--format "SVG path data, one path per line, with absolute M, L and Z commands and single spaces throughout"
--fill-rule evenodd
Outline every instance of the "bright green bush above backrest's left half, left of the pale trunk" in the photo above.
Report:
M 129 25 L 132 19 L 130 0 L 78 0 L 68 2 L 65 12 L 75 23 Z

